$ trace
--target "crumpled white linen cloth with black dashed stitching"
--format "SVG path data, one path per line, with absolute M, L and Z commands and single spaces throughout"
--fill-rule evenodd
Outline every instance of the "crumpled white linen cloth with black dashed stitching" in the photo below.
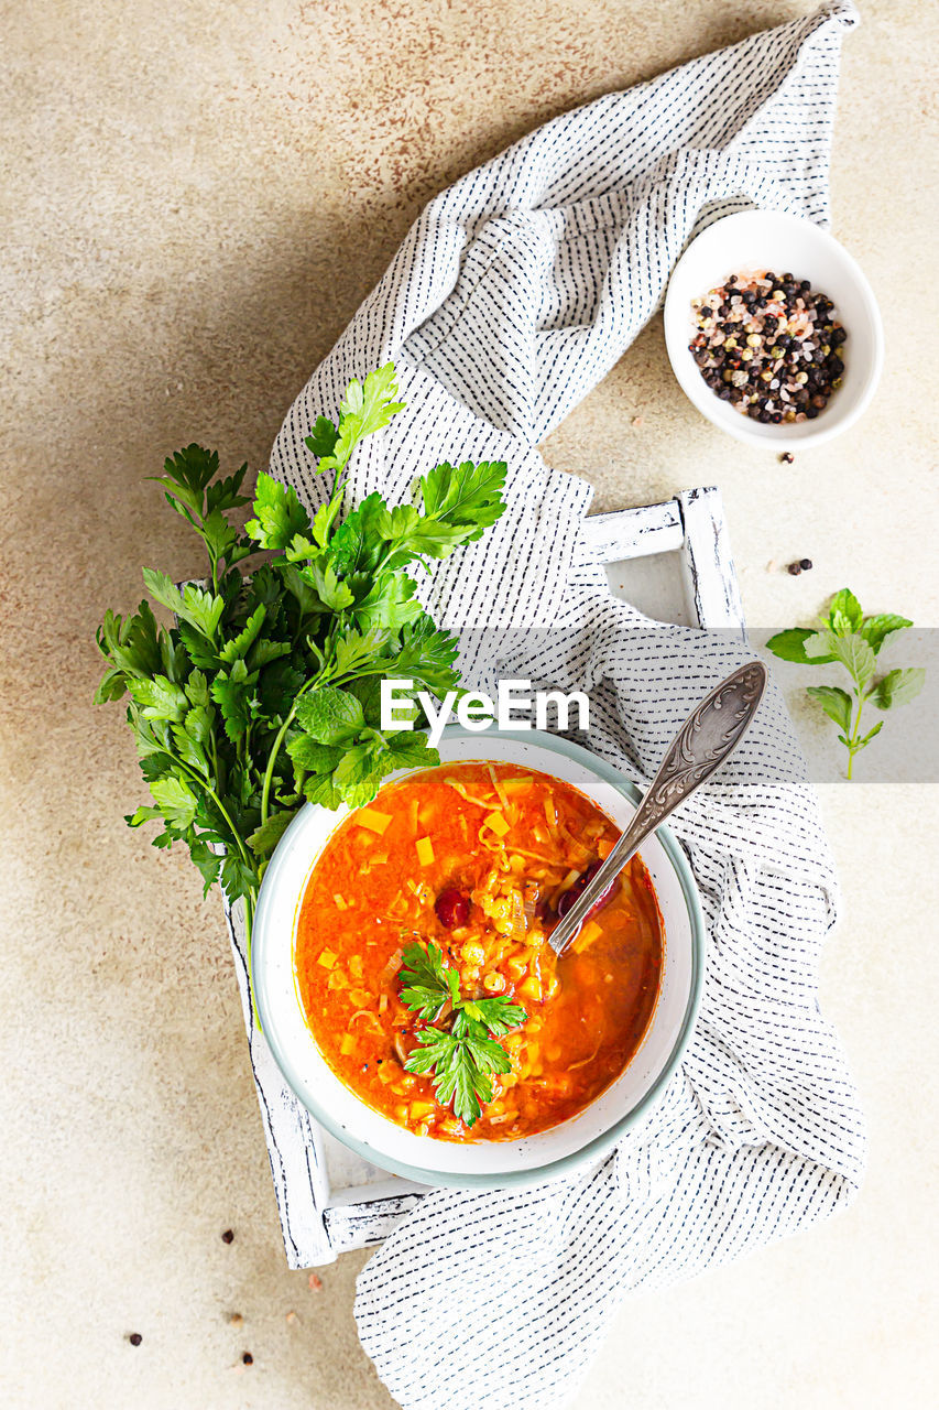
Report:
M 536 446 L 622 357 L 694 233 L 749 206 L 828 224 L 839 51 L 856 21 L 826 4 L 564 114 L 457 182 L 274 447 L 272 472 L 319 503 L 303 436 L 351 376 L 393 360 L 407 410 L 360 453 L 350 499 L 409 498 L 441 460 L 508 461 L 508 513 L 441 565 L 427 605 L 454 629 L 550 626 L 513 637 L 512 673 L 589 687 L 591 747 L 640 784 L 750 653 L 613 601 L 581 540 L 589 486 Z M 563 1404 L 627 1293 L 802 1228 L 860 1184 L 863 1118 L 818 1005 L 837 888 L 774 687 L 732 764 L 671 825 L 709 929 L 684 1063 L 599 1166 L 529 1191 L 431 1191 L 374 1255 L 355 1317 L 405 1410 Z

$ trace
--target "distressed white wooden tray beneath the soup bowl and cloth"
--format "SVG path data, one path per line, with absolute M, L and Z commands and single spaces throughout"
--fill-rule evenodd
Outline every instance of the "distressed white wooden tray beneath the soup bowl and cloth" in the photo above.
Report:
M 585 520 L 585 534 L 606 564 L 616 596 L 661 622 L 743 632 L 716 489 L 688 489 L 661 505 L 594 515 Z M 227 912 L 227 921 L 288 1263 L 331 1263 L 338 1253 L 386 1238 L 426 1186 L 352 1155 L 286 1087 L 254 1025 L 238 909 Z

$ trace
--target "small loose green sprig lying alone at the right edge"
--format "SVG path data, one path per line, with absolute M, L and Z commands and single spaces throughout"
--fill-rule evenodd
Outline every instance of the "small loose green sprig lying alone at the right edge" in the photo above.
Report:
M 806 685 L 806 694 L 818 701 L 829 719 L 839 726 L 839 740 L 847 749 L 847 777 L 852 777 L 854 754 L 870 744 L 881 732 L 878 719 L 866 735 L 860 732 L 861 711 L 870 701 L 880 711 L 907 705 L 919 695 L 926 673 L 922 667 L 887 671 L 877 677 L 877 654 L 884 643 L 895 640 L 912 622 L 895 612 L 864 616 L 860 602 L 849 588 L 832 598 L 828 616 L 818 627 L 797 626 L 777 632 L 766 643 L 774 656 L 799 666 L 825 666 L 839 661 L 852 678 L 850 695 L 839 685 Z

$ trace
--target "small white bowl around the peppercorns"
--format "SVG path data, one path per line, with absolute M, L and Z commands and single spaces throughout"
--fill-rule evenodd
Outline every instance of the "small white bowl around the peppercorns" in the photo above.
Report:
M 719 288 L 732 274 L 766 269 L 811 279 L 812 289 L 832 300 L 847 334 L 842 385 L 814 422 L 764 426 L 743 416 L 715 396 L 688 348 L 696 331 L 692 299 Z M 736 440 L 774 451 L 821 446 L 853 426 L 874 395 L 884 362 L 880 310 L 857 262 L 811 220 L 771 210 L 726 216 L 692 240 L 668 283 L 665 345 L 682 391 L 702 416 Z

